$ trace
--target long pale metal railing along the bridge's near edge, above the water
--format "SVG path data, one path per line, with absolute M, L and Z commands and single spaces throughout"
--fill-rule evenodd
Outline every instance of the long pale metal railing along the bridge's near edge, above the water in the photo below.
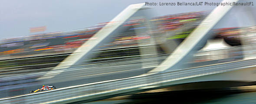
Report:
M 1 104 L 10 103 L 69 103 L 79 100 L 97 100 L 103 96 L 124 94 L 132 91 L 146 90 L 166 86 L 167 82 L 189 77 L 210 75 L 226 71 L 238 70 L 244 67 L 255 67 L 256 59 L 227 62 L 224 64 L 209 65 L 206 67 L 178 69 L 166 71 L 148 76 L 137 76 L 111 81 L 95 82 L 91 84 L 77 85 L 67 88 L 59 88 L 52 91 L 44 91 L 33 94 L 25 94 L 16 97 L 0 99 Z M 152 87 L 145 87 L 152 86 Z

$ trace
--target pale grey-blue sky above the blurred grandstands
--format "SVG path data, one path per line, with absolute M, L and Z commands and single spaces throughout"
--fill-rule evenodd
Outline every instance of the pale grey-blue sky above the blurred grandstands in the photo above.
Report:
M 46 26 L 46 31 L 72 31 L 108 22 L 135 3 L 195 2 L 197 0 L 0 0 L 0 39 L 28 36 L 30 28 Z M 220 2 L 221 0 L 201 0 Z M 216 6 L 152 6 L 151 14 L 213 10 Z M 232 22 L 230 22 L 232 24 Z

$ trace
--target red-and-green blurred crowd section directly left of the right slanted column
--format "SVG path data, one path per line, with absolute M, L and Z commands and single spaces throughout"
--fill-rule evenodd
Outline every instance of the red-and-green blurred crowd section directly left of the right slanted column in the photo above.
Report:
M 208 12 L 190 12 L 175 15 L 160 16 L 151 21 L 156 25 L 159 33 L 165 33 L 167 39 L 185 39 Z

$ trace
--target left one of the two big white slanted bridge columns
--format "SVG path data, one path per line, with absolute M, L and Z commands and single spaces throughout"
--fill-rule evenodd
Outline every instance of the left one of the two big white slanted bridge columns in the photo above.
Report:
M 101 30 L 98 31 L 91 39 L 78 49 L 76 49 L 71 55 L 65 58 L 59 65 L 57 65 L 53 70 L 57 70 L 60 68 L 70 68 L 72 65 L 81 64 L 82 60 L 89 59 L 92 57 L 92 53 L 94 50 L 97 50 L 98 46 L 101 43 L 107 42 L 108 38 L 112 35 L 112 33 L 121 26 L 126 20 L 128 20 L 132 15 L 134 15 L 138 10 L 143 10 L 147 7 L 144 7 L 144 3 L 132 4 L 125 8 L 121 13 L 119 13 L 113 20 L 111 20 L 106 26 L 104 26 Z M 64 70 L 49 72 L 46 75 L 51 76 L 43 76 L 40 79 L 53 78 L 55 75 L 59 75 Z

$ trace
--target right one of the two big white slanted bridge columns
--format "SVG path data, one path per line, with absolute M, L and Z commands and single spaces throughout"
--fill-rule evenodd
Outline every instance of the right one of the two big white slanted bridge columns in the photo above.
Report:
M 223 0 L 226 2 L 237 2 L 239 0 Z M 165 71 L 167 69 L 181 68 L 189 54 L 192 54 L 201 42 L 207 41 L 207 33 L 215 26 L 220 19 L 232 8 L 233 6 L 219 6 L 216 7 L 197 28 L 174 50 L 174 52 L 164 60 L 157 68 L 149 71 L 146 75 Z

